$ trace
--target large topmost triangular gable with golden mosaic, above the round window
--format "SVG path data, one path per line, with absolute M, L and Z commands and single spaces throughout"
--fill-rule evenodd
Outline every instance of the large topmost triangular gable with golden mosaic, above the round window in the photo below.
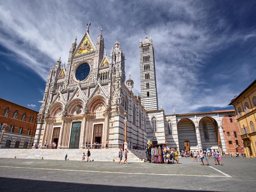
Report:
M 89 35 L 89 33 L 86 31 L 84 34 L 84 37 L 82 38 L 81 42 L 76 48 L 75 56 L 82 55 L 88 52 L 95 51 L 96 47 Z

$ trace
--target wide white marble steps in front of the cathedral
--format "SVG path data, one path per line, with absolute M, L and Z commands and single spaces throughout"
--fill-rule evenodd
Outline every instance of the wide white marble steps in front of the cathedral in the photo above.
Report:
M 90 149 L 90 159 L 94 161 L 118 161 L 119 149 Z M 1 158 L 22 158 L 22 159 L 51 159 L 65 160 L 68 154 L 69 160 L 81 161 L 83 152 L 86 154 L 88 149 L 0 149 Z M 128 153 L 128 162 L 143 162 L 145 159 L 144 151 L 132 150 Z M 86 157 L 87 158 L 87 157 Z M 86 159 L 85 159 L 86 160 Z M 124 157 L 123 157 L 124 160 Z M 146 160 L 147 161 L 147 160 Z

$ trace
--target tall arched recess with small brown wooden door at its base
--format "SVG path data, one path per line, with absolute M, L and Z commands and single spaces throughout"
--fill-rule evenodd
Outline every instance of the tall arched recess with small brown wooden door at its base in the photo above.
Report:
M 177 125 L 179 150 L 198 150 L 195 124 L 188 118 L 181 119 Z

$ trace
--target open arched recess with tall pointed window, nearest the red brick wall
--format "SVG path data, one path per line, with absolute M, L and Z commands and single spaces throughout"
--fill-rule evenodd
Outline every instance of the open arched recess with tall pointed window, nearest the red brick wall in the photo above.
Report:
M 201 117 L 198 121 L 202 149 L 218 149 L 218 122 L 211 116 Z M 220 144 L 221 145 L 221 144 Z

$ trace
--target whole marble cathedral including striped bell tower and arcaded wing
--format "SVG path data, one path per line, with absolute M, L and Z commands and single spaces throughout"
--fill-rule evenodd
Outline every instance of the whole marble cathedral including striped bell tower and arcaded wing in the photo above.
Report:
M 85 148 L 86 143 L 146 146 L 147 139 L 180 150 L 227 152 L 222 119 L 234 110 L 166 115 L 158 109 L 154 46 L 139 42 L 140 87 L 126 80 L 124 52 L 118 40 L 110 56 L 104 52 L 102 29 L 96 44 L 89 26 L 81 42 L 72 44 L 67 68 L 59 59 L 49 71 L 38 115 L 35 143 L 58 148 Z M 125 81 L 126 80 L 126 81 Z

